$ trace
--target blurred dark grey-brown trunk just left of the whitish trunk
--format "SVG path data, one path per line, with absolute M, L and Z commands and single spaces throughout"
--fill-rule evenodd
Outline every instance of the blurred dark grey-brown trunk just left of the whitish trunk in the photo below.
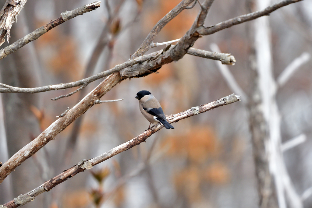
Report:
M 255 0 L 248 0 L 248 12 L 255 11 Z M 256 48 L 255 48 L 255 23 L 249 22 L 247 26 L 249 41 L 249 67 L 251 69 L 252 88 L 249 92 L 249 127 L 251 131 L 251 140 L 253 156 L 256 167 L 256 177 L 258 182 L 259 207 L 273 208 L 278 207 L 278 201 L 275 192 L 274 180 L 269 170 L 269 158 L 267 156 L 266 143 L 268 143 L 269 132 L 267 123 L 262 111 L 262 97 L 259 86 L 259 73 L 257 69 Z

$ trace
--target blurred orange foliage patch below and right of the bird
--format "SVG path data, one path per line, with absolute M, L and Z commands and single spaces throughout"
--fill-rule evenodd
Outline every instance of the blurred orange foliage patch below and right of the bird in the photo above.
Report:
M 168 156 L 186 161 L 186 166 L 174 174 L 173 180 L 178 193 L 194 202 L 202 199 L 203 183 L 225 184 L 230 173 L 226 164 L 218 159 L 222 148 L 212 128 L 190 129 L 167 138 L 161 146 L 169 148 Z

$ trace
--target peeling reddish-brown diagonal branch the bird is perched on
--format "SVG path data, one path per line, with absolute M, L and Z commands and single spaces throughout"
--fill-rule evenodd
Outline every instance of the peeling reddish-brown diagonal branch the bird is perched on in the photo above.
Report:
M 211 103 L 207 103 L 204 105 L 193 107 L 191 109 L 185 110 L 185 111 L 178 113 L 178 114 L 175 114 L 175 115 L 167 116 L 167 119 L 168 119 L 169 123 L 178 122 L 182 119 L 186 119 L 186 118 L 191 117 L 193 115 L 201 114 L 201 113 L 204 113 L 208 110 L 212 110 L 212 109 L 215 109 L 217 107 L 221 107 L 221 106 L 224 106 L 227 104 L 232 104 L 232 103 L 237 102 L 239 100 L 240 100 L 239 95 L 231 94 L 227 97 L 218 99 L 218 100 L 213 101 Z M 26 202 L 26 203 L 28 203 L 31 200 L 34 200 L 34 198 L 36 196 L 38 196 L 39 194 L 46 192 L 46 191 L 50 191 L 53 187 L 55 187 L 58 184 L 66 181 L 68 178 L 75 176 L 77 173 L 83 172 L 87 169 L 91 169 L 93 166 L 95 166 L 95 165 L 119 154 L 120 152 L 124 152 L 124 151 L 144 142 L 147 138 L 149 138 L 151 135 L 153 135 L 154 133 L 156 133 L 157 131 L 159 131 L 162 128 L 163 128 L 163 125 L 158 123 L 158 124 L 152 126 L 151 129 L 148 129 L 148 130 L 144 131 L 143 133 L 141 133 L 139 136 L 137 136 L 137 137 L 131 139 L 130 141 L 123 143 L 123 144 L 121 144 L 121 145 L 97 156 L 97 157 L 94 157 L 90 160 L 83 159 L 81 162 L 79 162 L 74 167 L 71 167 L 68 170 L 62 172 L 58 176 L 52 178 L 50 181 L 46 181 L 45 183 L 43 183 L 41 186 L 37 187 L 36 189 L 34 189 L 34 190 L 24 194 L 24 195 L 21 195 L 20 198 L 29 199 L 29 201 Z M 7 206 L 7 208 L 13 208 L 13 207 L 18 207 L 20 205 L 15 204 L 15 200 L 12 200 L 12 201 L 9 201 L 6 204 L 4 204 L 4 206 Z

